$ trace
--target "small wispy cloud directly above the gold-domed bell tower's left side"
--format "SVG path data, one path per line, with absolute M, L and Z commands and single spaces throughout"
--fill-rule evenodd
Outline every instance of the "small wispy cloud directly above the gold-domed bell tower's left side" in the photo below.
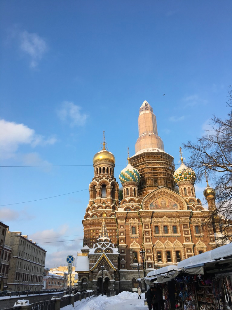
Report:
M 57 110 L 57 115 L 62 122 L 70 123 L 70 126 L 83 126 L 88 116 L 81 113 L 81 109 L 73 102 L 64 101 L 62 107 Z

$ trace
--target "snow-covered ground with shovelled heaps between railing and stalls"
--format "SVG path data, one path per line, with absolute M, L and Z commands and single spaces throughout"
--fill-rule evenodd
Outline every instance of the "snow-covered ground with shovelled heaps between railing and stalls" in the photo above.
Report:
M 106 297 L 98 296 L 93 298 L 82 299 L 76 301 L 74 308 L 68 305 L 62 310 L 147 310 L 144 306 L 145 294 L 141 294 L 141 299 L 138 299 L 137 293 L 122 292 L 116 296 Z

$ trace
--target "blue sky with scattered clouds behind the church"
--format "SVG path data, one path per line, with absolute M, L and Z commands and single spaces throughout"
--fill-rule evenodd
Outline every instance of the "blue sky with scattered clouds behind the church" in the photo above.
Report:
M 212 114 L 226 117 L 231 9 L 227 0 L 1 1 L 0 164 L 53 167 L 1 167 L 0 220 L 38 243 L 63 241 L 40 243 L 46 267 L 82 247 L 103 130 L 118 180 L 144 100 L 176 168 L 179 146 Z

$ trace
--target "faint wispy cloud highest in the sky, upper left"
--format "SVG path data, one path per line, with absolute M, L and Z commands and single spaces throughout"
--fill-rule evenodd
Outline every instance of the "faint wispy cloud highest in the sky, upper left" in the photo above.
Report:
M 24 30 L 19 33 L 20 49 L 30 56 L 30 65 L 35 68 L 44 53 L 48 50 L 47 44 L 37 33 Z

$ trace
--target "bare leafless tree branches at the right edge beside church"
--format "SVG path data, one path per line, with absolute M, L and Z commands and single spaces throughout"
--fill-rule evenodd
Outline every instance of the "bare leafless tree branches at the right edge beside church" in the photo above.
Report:
M 232 90 L 226 102 L 230 109 L 228 117 L 222 120 L 213 115 L 211 130 L 195 143 L 188 141 L 184 148 L 191 153 L 189 166 L 201 181 L 206 174 L 212 180 L 216 191 L 214 217 L 221 218 L 221 232 L 232 237 Z

